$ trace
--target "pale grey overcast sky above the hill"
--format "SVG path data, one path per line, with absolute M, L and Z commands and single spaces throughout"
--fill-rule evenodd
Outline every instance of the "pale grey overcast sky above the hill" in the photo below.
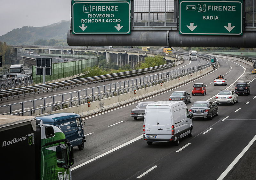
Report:
M 70 20 L 71 0 L 0 0 L 0 36 L 22 26 Z

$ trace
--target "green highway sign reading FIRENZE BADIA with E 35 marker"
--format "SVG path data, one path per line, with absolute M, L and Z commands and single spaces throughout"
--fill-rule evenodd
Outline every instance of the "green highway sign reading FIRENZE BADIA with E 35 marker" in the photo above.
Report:
M 243 1 L 180 1 L 180 34 L 242 35 Z

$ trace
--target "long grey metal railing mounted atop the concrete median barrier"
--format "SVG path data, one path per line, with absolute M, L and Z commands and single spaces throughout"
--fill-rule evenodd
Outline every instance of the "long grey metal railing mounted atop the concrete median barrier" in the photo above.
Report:
M 208 59 L 210 58 L 211 57 L 208 56 Z M 0 106 L 0 109 L 8 108 L 10 112 L 7 112 L 5 114 L 10 114 L 10 115 L 32 116 L 36 110 L 40 110 L 40 114 L 43 114 L 43 113 L 58 110 L 58 109 L 77 106 L 79 104 L 84 104 L 91 101 L 101 100 L 114 95 L 132 92 L 134 90 L 138 90 L 144 87 L 153 86 L 159 83 L 163 83 L 165 81 L 170 81 L 182 76 L 186 76 L 188 74 L 192 74 L 194 72 L 203 70 L 210 66 L 212 66 L 212 63 L 209 62 L 207 64 L 203 64 L 203 65 L 192 67 L 192 68 L 168 71 L 168 72 L 163 72 L 163 73 L 146 76 L 142 78 L 131 79 L 127 81 L 117 82 L 117 83 L 93 87 L 93 88 L 87 88 L 80 91 L 59 94 L 59 95 L 35 99 L 31 101 L 24 101 L 20 103 L 4 105 L 4 106 Z M 25 107 L 29 107 L 29 104 L 33 107 L 25 108 Z

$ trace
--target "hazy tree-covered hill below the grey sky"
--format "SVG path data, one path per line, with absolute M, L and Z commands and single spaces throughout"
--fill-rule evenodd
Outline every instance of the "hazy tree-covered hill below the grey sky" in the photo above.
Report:
M 69 27 L 70 21 L 65 20 L 43 27 L 23 26 L 0 36 L 0 41 L 8 45 L 67 45 Z

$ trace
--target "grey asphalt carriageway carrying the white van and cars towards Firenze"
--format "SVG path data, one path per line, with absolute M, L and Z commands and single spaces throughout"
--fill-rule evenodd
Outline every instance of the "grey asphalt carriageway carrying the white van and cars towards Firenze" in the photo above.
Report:
M 218 75 L 227 73 L 228 85 L 243 78 L 243 73 L 250 77 L 249 65 L 223 58 L 219 58 L 219 64 L 219 69 L 200 79 L 141 101 L 168 100 L 172 91 L 191 93 L 194 83 L 204 83 L 207 94 L 192 96 L 192 103 L 187 104 L 190 108 L 193 102 L 211 100 L 227 88 L 212 85 Z M 255 136 L 255 81 L 250 85 L 251 95 L 239 96 L 234 106 L 219 105 L 219 116 L 212 120 L 195 118 L 192 138 L 181 139 L 179 146 L 147 145 L 142 138 L 143 118 L 130 117 L 139 101 L 85 118 L 87 142 L 83 151 L 74 148 L 73 179 L 218 179 Z

